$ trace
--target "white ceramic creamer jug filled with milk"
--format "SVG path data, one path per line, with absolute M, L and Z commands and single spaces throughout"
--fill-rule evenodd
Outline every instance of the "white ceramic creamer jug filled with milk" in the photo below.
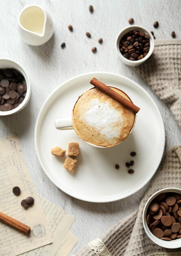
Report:
M 19 0 L 22 11 L 18 17 L 18 30 L 28 45 L 43 45 L 53 35 L 54 26 L 51 17 L 38 5 L 28 5 Z

